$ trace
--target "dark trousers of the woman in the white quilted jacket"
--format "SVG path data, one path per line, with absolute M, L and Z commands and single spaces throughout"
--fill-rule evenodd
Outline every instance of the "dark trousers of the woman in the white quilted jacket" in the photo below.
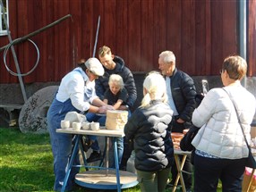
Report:
M 194 191 L 216 192 L 220 179 L 223 192 L 241 192 L 244 164 L 245 158 L 216 159 L 195 154 Z

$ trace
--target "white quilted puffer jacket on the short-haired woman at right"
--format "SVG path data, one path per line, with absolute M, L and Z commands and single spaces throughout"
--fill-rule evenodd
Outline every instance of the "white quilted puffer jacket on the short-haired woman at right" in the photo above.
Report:
M 248 141 L 256 109 L 255 97 L 242 86 L 225 88 L 235 102 Z M 235 107 L 222 88 L 213 88 L 201 105 L 192 113 L 192 123 L 201 127 L 192 145 L 220 158 L 240 159 L 248 156 L 243 132 L 237 120 Z

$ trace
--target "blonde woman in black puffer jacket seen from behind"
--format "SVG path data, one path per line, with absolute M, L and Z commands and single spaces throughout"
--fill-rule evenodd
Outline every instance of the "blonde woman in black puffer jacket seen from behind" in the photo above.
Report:
M 173 111 L 166 104 L 166 82 L 151 72 L 143 82 L 143 99 L 124 127 L 125 137 L 133 142 L 135 168 L 141 191 L 165 191 L 174 147 L 167 130 Z

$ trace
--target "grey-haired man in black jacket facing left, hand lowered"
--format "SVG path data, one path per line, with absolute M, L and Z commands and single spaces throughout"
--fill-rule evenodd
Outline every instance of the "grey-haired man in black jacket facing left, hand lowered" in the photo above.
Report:
M 158 64 L 159 70 L 166 78 L 168 104 L 174 111 L 173 121 L 169 124 L 169 129 L 172 132 L 183 133 L 183 129 L 189 129 L 192 125 L 192 112 L 196 107 L 194 82 L 188 74 L 177 70 L 175 66 L 175 54 L 173 52 L 164 51 L 159 54 Z M 187 157 L 183 170 L 192 172 L 190 156 Z M 173 166 L 171 184 L 175 183 L 176 176 L 177 169 Z M 192 187 L 192 176 L 190 174 L 183 174 L 183 179 L 187 191 L 190 191 Z

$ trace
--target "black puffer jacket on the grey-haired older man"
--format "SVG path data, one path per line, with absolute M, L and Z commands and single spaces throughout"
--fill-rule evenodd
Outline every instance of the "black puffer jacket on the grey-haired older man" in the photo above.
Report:
M 173 76 L 169 78 L 171 79 L 172 96 L 179 117 L 183 121 L 190 122 L 192 112 L 196 107 L 194 82 L 189 75 L 177 69 L 175 69 Z

